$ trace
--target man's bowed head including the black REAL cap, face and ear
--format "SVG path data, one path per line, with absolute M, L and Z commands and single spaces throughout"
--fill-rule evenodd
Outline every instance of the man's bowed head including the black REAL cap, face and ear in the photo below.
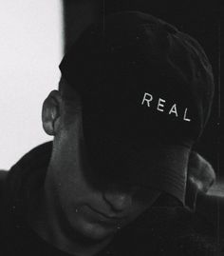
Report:
M 54 135 L 48 193 L 68 226 L 101 239 L 159 191 L 184 203 L 189 152 L 214 86 L 196 40 L 153 16 L 121 12 L 85 30 L 60 69 L 43 125 Z

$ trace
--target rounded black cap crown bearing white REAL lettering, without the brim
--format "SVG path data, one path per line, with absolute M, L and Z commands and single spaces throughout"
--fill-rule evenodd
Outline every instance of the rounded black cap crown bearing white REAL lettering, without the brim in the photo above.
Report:
M 87 112 L 103 112 L 111 128 L 117 117 L 121 134 L 139 134 L 146 145 L 153 135 L 190 147 L 210 113 L 214 78 L 203 49 L 149 14 L 119 12 L 90 26 L 60 69 L 84 97 Z

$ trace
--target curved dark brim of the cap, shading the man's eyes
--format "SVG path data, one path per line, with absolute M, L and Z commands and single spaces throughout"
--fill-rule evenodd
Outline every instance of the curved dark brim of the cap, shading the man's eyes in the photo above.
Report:
M 141 145 L 115 121 L 108 128 L 99 116 L 83 118 L 88 159 L 96 173 L 106 180 L 167 192 L 184 204 L 190 148 L 161 144 L 153 134 L 151 143 Z

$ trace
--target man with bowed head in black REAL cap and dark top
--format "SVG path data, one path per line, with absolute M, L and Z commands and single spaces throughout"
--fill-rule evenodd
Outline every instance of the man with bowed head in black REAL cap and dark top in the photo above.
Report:
M 60 69 L 42 113 L 54 140 L 3 188 L 4 255 L 216 253 L 213 228 L 184 207 L 214 94 L 196 40 L 151 15 L 116 13 L 85 30 Z

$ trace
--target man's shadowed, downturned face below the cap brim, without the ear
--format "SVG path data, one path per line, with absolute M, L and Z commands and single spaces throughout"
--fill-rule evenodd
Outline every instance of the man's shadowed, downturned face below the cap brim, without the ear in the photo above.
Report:
M 159 196 L 159 191 L 118 182 L 91 179 L 84 145 L 82 111 L 69 125 L 62 114 L 47 171 L 47 193 L 65 225 L 85 238 L 100 241 L 112 237 L 135 220 Z M 46 187 L 47 189 L 47 187 Z

